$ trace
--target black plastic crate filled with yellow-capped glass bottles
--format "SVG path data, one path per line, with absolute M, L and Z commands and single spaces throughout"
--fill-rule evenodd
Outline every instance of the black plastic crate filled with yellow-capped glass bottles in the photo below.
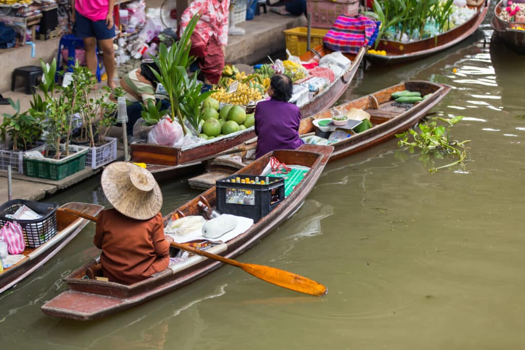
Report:
M 233 175 L 225 179 L 216 181 L 217 189 L 217 211 L 221 214 L 233 214 L 240 217 L 254 219 L 254 222 L 259 221 L 262 217 L 268 215 L 269 212 L 274 210 L 285 199 L 285 179 L 278 177 L 268 177 L 269 184 L 256 184 L 256 183 L 238 183 L 231 182 L 231 179 L 250 179 L 255 181 L 258 177 L 259 180 L 266 181 L 265 176 L 256 175 Z M 245 203 L 228 203 L 228 199 L 235 198 L 235 193 L 244 193 L 243 190 L 250 191 L 253 194 L 247 195 L 251 198 Z

